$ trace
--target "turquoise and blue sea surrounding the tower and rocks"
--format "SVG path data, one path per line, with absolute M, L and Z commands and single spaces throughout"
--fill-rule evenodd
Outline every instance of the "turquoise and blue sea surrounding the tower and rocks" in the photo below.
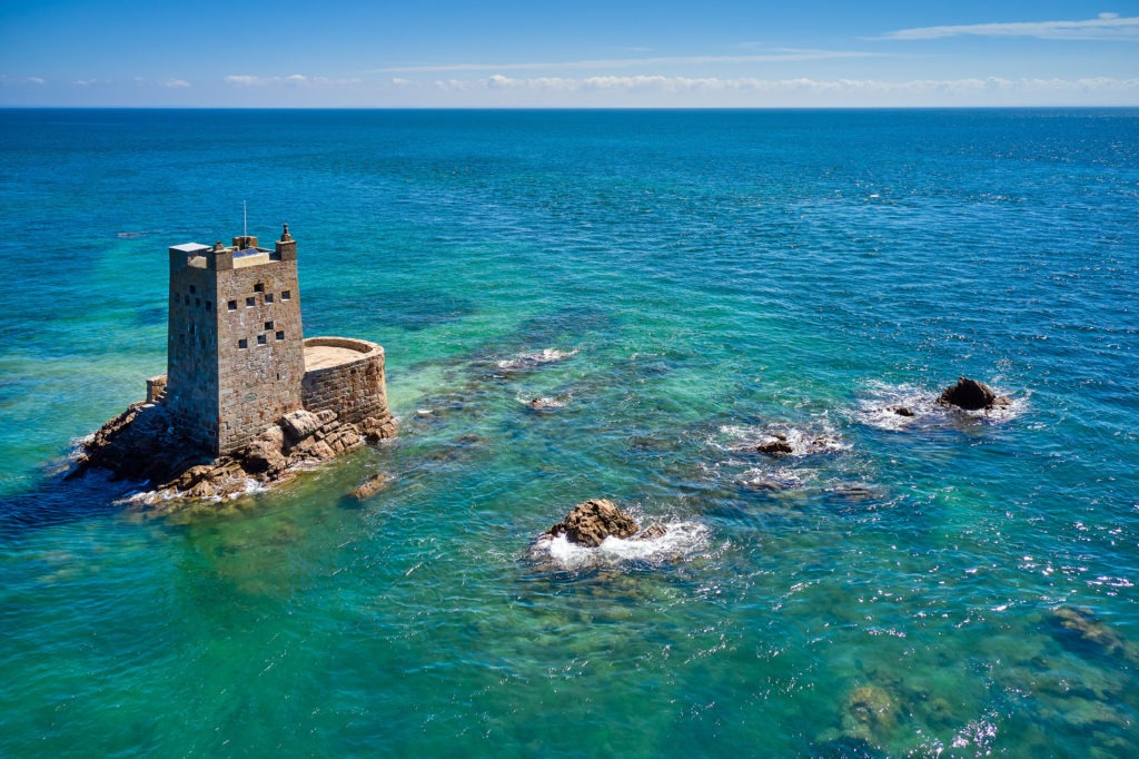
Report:
M 243 202 L 399 440 L 64 482 Z M 0 756 L 1139 753 L 1139 111 L 0 111 Z

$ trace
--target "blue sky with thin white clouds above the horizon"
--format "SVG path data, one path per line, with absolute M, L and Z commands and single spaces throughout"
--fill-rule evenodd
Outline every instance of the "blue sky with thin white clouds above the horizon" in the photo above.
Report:
M 5 0 L 0 105 L 1139 106 L 1139 0 Z

